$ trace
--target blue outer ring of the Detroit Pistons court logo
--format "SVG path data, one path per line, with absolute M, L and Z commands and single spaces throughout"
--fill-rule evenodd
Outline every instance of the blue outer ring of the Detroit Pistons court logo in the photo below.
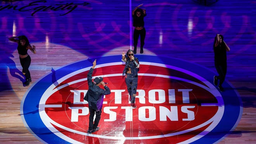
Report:
M 215 73 L 208 68 L 181 59 L 150 55 L 137 55 L 136 57 L 138 57 L 139 61 L 143 62 L 160 63 L 186 69 L 187 71 L 191 71 L 210 82 L 213 81 L 213 76 L 215 75 Z M 97 59 L 97 64 L 114 63 L 121 61 L 121 55 L 105 56 L 92 59 Z M 58 78 L 62 78 L 69 73 L 91 66 L 92 61 L 88 59 L 68 64 L 55 70 L 56 79 L 58 80 Z M 122 71 L 123 69 L 121 69 L 120 73 L 122 73 Z M 22 121 L 31 134 L 35 134 L 35 137 L 42 142 L 69 144 L 69 142 L 61 139 L 50 131 L 46 125 L 43 124 L 43 121 L 39 115 L 38 105 L 41 99 L 40 96 L 43 95 L 45 90 L 47 90 L 50 85 L 52 85 L 51 71 L 35 81 L 35 83 L 29 87 L 21 102 Z M 224 81 L 223 86 L 225 89 L 227 89 L 226 91 L 221 92 L 225 105 L 223 117 L 213 130 L 200 139 L 192 142 L 192 144 L 220 142 L 221 140 L 225 139 L 225 136 L 229 132 L 237 127 L 242 117 L 242 102 L 240 96 L 228 81 Z

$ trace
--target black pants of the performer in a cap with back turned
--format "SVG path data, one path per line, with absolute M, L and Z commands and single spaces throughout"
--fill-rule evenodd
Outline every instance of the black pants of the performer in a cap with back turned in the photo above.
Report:
M 101 109 L 98 111 L 98 110 L 95 110 L 95 109 L 89 107 L 89 112 L 90 112 L 90 116 L 89 116 L 89 130 L 93 130 L 93 129 L 96 129 L 97 126 L 99 125 Z M 96 113 L 96 117 L 95 117 L 94 124 L 93 124 L 93 117 L 94 117 L 95 113 Z

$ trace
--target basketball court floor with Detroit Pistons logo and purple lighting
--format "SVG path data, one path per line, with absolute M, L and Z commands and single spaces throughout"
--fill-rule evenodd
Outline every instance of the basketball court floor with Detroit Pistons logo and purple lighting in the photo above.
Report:
M 0 143 L 256 143 L 256 1 L 0 1 Z M 137 108 L 130 106 L 122 52 L 133 49 L 131 11 L 146 9 Z M 230 47 L 221 92 L 213 84 L 213 42 Z M 25 35 L 31 83 L 17 43 Z M 99 131 L 88 134 L 87 73 L 102 76 Z

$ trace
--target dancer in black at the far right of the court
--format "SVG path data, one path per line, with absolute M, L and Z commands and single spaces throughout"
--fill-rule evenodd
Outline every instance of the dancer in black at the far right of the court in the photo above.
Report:
M 214 39 L 213 44 L 213 50 L 214 50 L 214 65 L 215 68 L 219 74 L 219 76 L 214 76 L 214 85 L 218 85 L 218 80 L 220 80 L 218 88 L 220 91 L 224 91 L 224 88 L 222 87 L 222 83 L 225 80 L 226 73 L 227 73 L 227 53 L 226 51 L 230 51 L 230 48 L 226 44 L 226 42 L 223 40 L 223 36 L 220 34 L 217 34 Z

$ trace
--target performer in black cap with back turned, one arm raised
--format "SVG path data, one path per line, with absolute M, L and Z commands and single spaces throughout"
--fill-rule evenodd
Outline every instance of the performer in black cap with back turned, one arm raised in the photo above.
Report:
M 93 132 L 96 132 L 100 128 L 98 127 L 99 121 L 100 121 L 100 115 L 101 115 L 101 109 L 103 105 L 103 98 L 104 95 L 109 95 L 111 92 L 109 88 L 105 85 L 102 77 L 97 77 L 92 81 L 92 73 L 93 69 L 96 66 L 96 59 L 93 61 L 93 66 L 90 69 L 89 73 L 87 74 L 87 81 L 88 81 L 88 91 L 85 94 L 85 97 L 83 98 L 88 102 L 88 108 L 90 112 L 89 116 L 89 129 L 88 134 L 92 134 Z M 104 86 L 104 89 L 100 88 L 100 85 Z M 94 123 L 93 123 L 93 117 L 96 114 Z

